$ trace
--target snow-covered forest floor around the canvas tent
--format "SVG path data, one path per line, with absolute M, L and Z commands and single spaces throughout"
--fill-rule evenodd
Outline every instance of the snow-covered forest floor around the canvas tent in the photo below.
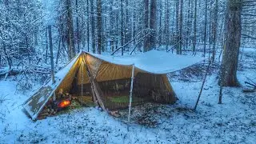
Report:
M 254 49 L 243 50 L 238 78 L 256 78 Z M 198 108 L 193 111 L 202 86 L 201 78 L 184 81 L 170 78 L 179 101 L 150 111 L 158 125 L 134 121 L 129 130 L 122 118 L 113 118 L 96 108 L 33 122 L 22 111 L 32 90 L 16 90 L 15 78 L 0 81 L 0 143 L 255 143 L 256 93 L 243 87 L 225 88 L 218 104 L 218 70 L 206 78 Z M 39 85 L 33 86 L 37 90 Z M 134 112 L 134 111 L 133 111 Z

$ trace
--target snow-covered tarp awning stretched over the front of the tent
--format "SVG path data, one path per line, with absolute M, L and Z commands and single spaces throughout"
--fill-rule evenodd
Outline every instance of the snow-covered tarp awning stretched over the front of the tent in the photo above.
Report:
M 204 59 L 198 56 L 170 54 L 158 50 L 150 50 L 144 54 L 123 57 L 100 54 L 91 55 L 117 65 L 128 66 L 134 64 L 136 68 L 152 74 L 167 74 L 182 70 Z

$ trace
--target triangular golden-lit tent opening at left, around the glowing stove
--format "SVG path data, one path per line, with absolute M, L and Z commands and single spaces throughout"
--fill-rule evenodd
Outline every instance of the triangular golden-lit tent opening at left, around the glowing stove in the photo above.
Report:
M 53 96 L 50 97 L 42 111 L 38 114 L 38 119 L 63 114 L 82 107 L 95 106 L 92 93 L 93 90 L 85 64 L 82 61 L 82 57 L 80 57 L 54 90 Z M 70 105 L 59 107 L 59 103 L 63 101 L 70 101 Z

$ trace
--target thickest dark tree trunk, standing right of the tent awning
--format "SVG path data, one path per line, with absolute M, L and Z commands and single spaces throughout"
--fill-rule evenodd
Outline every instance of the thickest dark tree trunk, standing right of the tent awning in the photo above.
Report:
M 222 85 L 239 86 L 238 55 L 241 40 L 242 0 L 228 0 L 226 12 L 226 41 L 222 57 Z

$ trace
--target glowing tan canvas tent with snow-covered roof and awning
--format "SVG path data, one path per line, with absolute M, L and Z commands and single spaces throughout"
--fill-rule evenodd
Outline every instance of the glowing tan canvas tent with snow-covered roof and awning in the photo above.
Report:
M 60 89 L 71 94 L 89 94 L 104 110 L 127 107 L 123 99 L 129 99 L 130 94 L 134 105 L 151 100 L 174 103 L 176 94 L 166 74 L 201 60 L 158 50 L 124 57 L 82 52 L 54 75 L 54 84 L 46 82 L 23 107 L 35 120 Z

